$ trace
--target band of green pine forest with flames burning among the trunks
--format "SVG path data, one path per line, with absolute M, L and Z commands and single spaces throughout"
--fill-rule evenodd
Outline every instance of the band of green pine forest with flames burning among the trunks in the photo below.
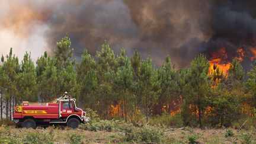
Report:
M 82 108 L 97 111 L 101 119 L 127 123 L 145 119 L 178 119 L 184 126 L 229 127 L 254 121 L 256 67 L 248 73 L 233 59 L 228 72 L 211 65 L 200 54 L 188 68 L 175 68 L 171 57 L 162 66 L 139 52 L 128 57 L 124 49 L 115 55 L 106 41 L 95 56 L 85 50 L 78 62 L 68 34 L 57 42 L 52 56 L 42 53 L 36 63 L 31 53 L 22 60 L 12 53 L 1 57 L 1 119 L 12 117 L 22 101 L 50 102 L 65 91 Z M 170 123 L 168 121 L 167 123 Z

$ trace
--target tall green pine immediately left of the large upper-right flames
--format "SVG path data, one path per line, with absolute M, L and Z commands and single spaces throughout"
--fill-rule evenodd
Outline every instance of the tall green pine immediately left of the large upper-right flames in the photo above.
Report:
M 198 111 L 200 127 L 202 127 L 202 114 L 209 96 L 211 80 L 209 78 L 209 62 L 204 55 L 199 55 L 192 60 L 190 71 L 187 74 L 185 101 L 194 107 L 194 113 Z

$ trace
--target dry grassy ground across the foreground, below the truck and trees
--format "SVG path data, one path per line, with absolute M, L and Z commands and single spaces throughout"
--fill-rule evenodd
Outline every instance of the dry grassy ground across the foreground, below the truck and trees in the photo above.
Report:
M 232 136 L 226 136 L 231 133 Z M 256 133 L 250 130 L 235 129 L 168 129 L 159 143 L 255 143 Z M 143 135 L 140 133 L 139 135 Z M 228 134 L 229 135 L 229 134 Z M 196 139 L 194 139 L 196 137 Z M 115 130 L 107 132 L 99 130 L 92 132 L 67 127 L 37 127 L 36 130 L 15 128 L 14 126 L 0 127 L 0 143 L 140 143 L 127 142 L 125 133 Z

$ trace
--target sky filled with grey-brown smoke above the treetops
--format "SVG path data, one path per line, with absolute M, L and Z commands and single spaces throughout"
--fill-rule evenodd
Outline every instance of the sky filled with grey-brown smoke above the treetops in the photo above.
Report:
M 13 47 L 20 59 L 27 51 L 36 60 L 69 33 L 76 59 L 84 49 L 95 55 L 107 40 L 116 54 L 121 47 L 129 56 L 138 50 L 156 65 L 169 55 L 176 66 L 188 66 L 199 53 L 210 57 L 220 47 L 230 60 L 239 47 L 255 47 L 255 5 L 253 0 L 1 0 L 0 53 Z

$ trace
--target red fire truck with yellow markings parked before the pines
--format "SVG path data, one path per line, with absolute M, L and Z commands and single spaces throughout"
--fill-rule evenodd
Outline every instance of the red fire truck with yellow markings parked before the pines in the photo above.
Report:
M 13 120 L 23 127 L 36 129 L 37 124 L 66 124 L 75 129 L 88 121 L 86 112 L 76 107 L 75 98 L 59 98 L 56 103 L 28 103 L 14 107 Z

